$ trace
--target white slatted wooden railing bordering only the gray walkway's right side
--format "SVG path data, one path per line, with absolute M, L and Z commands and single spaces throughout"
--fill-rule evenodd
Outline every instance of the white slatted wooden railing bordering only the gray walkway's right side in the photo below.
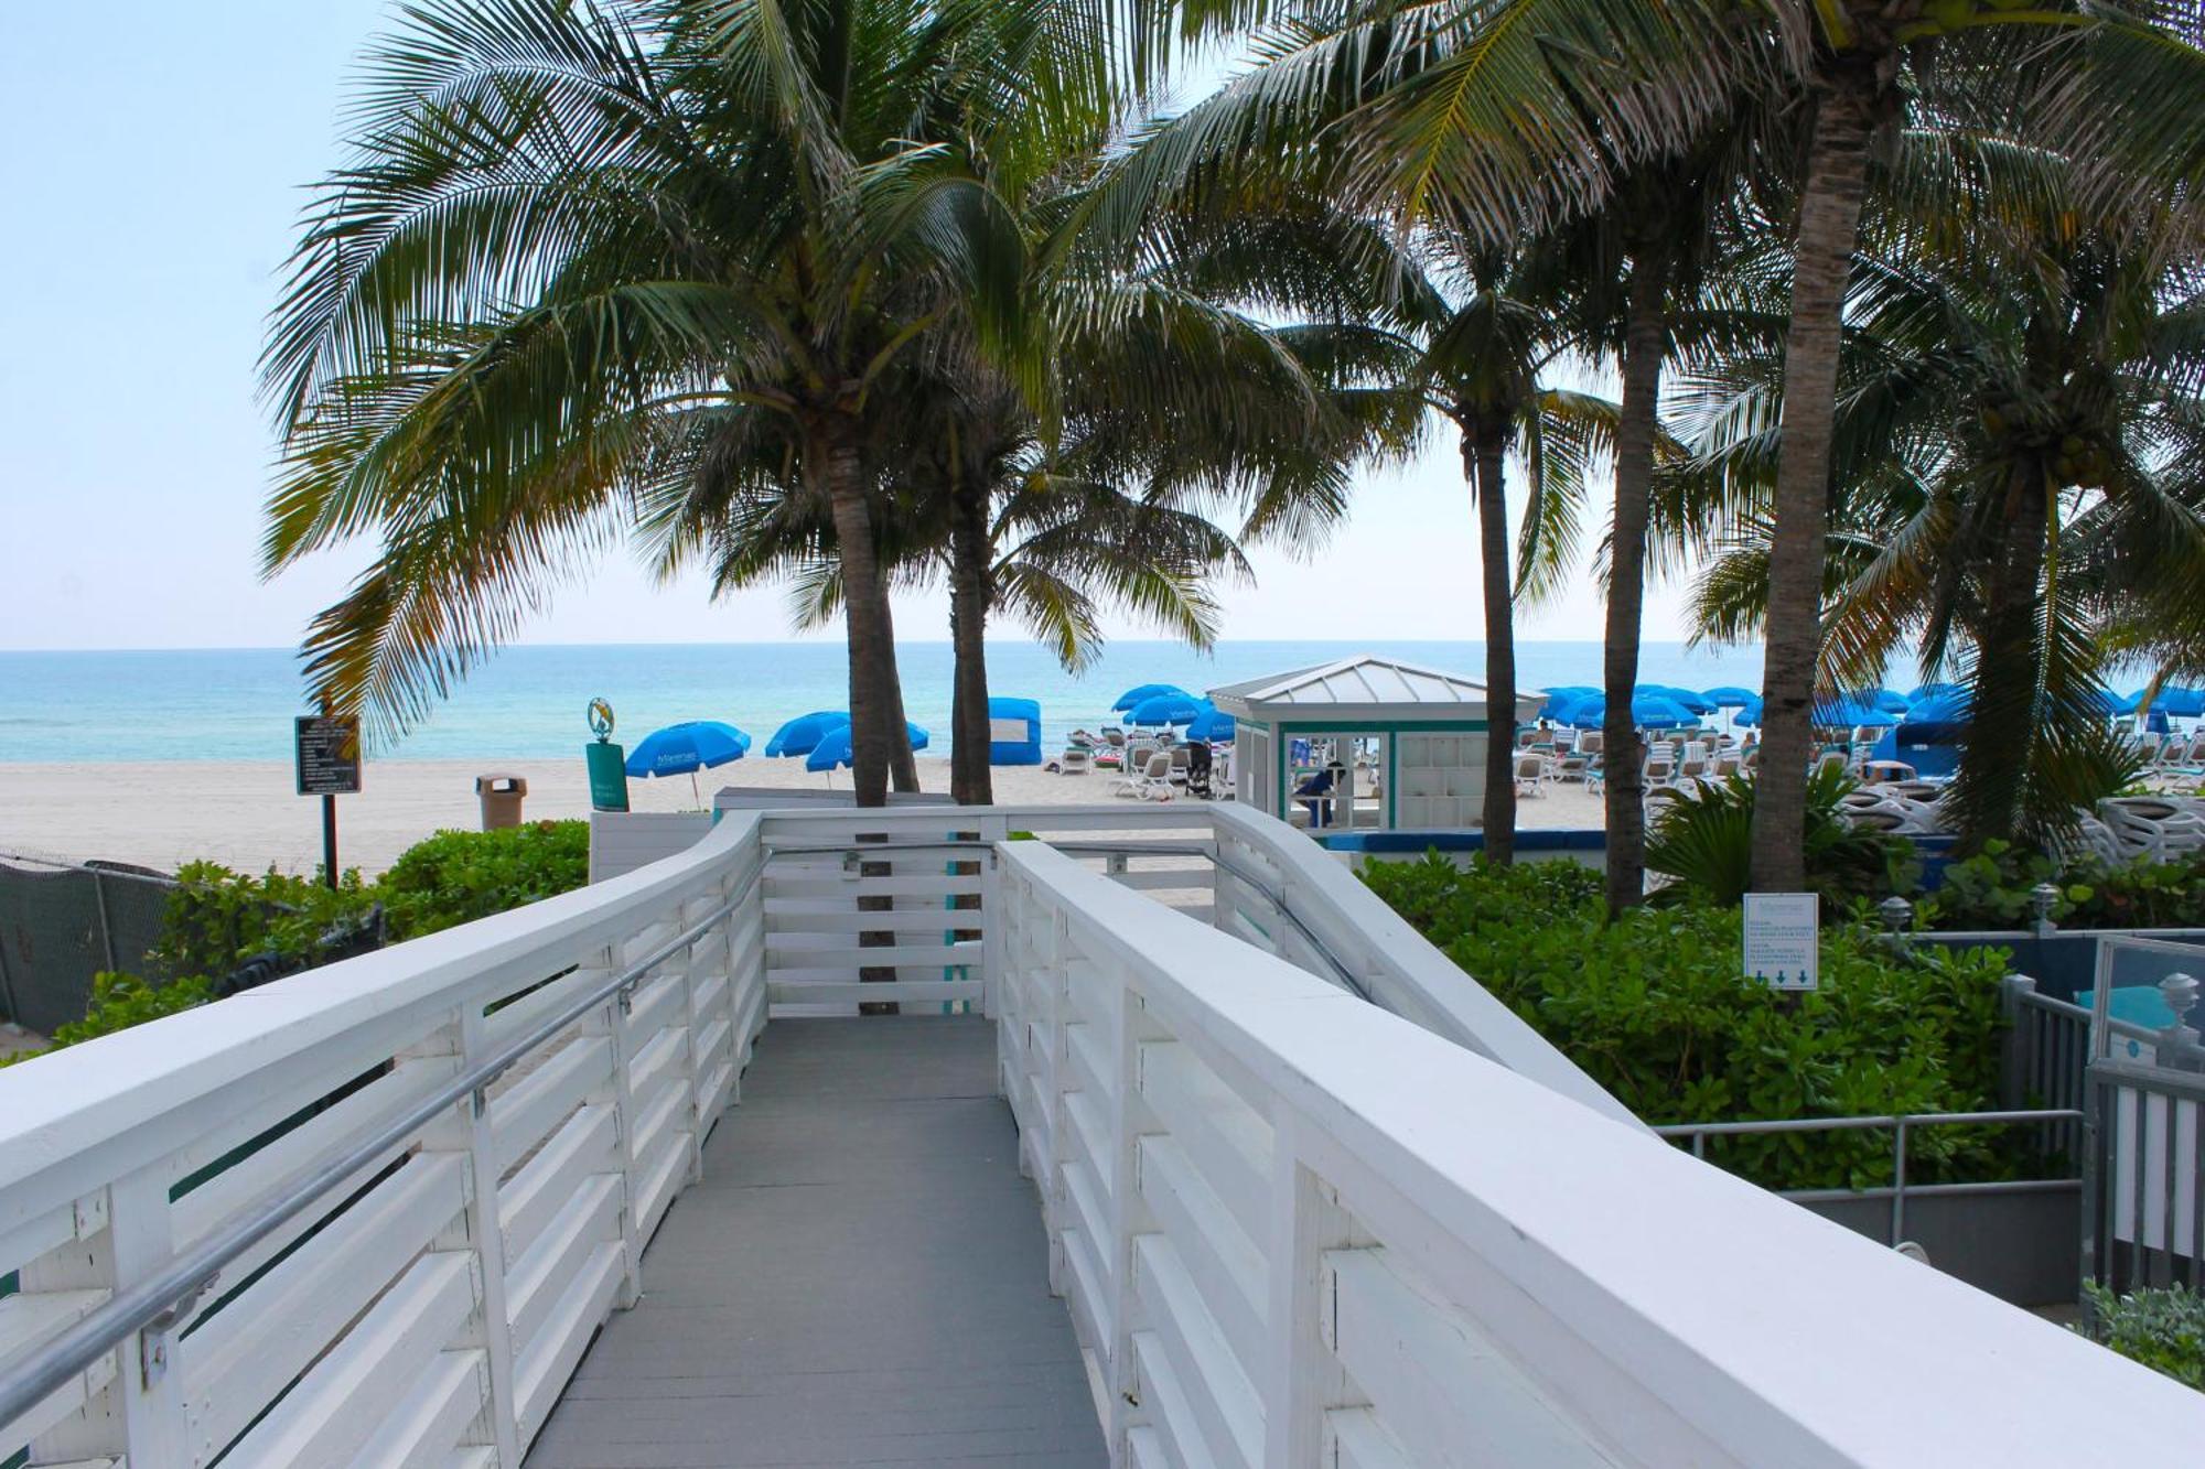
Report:
M 2187 1387 L 1001 851 L 1001 1081 L 1114 1462 L 2194 1462 Z

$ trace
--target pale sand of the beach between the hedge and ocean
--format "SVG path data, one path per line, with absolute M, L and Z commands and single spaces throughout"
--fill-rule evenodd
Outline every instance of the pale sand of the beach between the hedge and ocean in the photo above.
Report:
M 474 776 L 527 779 L 529 818 L 587 816 L 589 781 L 567 761 L 377 761 L 364 790 L 337 798 L 337 860 L 370 873 L 430 832 L 481 825 Z M 919 759 L 919 783 L 948 790 L 948 761 Z M 628 781 L 637 812 L 710 805 L 721 785 L 849 790 L 849 772 L 807 774 L 800 761 L 750 759 L 697 776 Z M 994 772 L 1003 805 L 1107 801 L 1109 774 L 1058 776 L 1036 765 Z M 1524 827 L 1599 827 L 1601 803 L 1581 785 L 1557 785 L 1519 803 Z M 313 871 L 322 860 L 322 803 L 293 794 L 284 761 L 148 761 L 126 765 L 0 765 L 0 854 L 104 858 L 174 869 L 212 858 L 243 871 L 269 865 Z

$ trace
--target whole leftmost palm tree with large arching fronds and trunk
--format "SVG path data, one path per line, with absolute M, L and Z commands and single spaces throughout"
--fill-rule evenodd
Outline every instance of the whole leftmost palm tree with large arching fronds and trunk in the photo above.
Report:
M 265 357 L 271 571 L 381 556 L 309 635 L 404 730 L 633 527 L 639 465 L 754 408 L 825 507 L 858 801 L 902 743 L 869 461 L 878 384 L 948 318 L 1014 353 L 1023 187 L 1114 115 L 1105 0 L 439 0 L 370 62 Z M 979 159 L 986 157 L 986 168 Z M 900 774 L 913 776 L 908 750 Z

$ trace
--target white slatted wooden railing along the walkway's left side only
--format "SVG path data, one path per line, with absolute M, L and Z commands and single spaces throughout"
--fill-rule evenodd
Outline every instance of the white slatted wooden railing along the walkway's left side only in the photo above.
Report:
M 0 1072 L 0 1454 L 518 1465 L 765 1023 L 761 858 Z

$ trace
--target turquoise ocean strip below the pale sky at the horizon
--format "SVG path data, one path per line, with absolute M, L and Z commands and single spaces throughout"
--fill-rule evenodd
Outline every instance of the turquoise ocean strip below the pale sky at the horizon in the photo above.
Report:
M 1325 664 L 1354 653 L 1482 677 L 1477 642 L 1224 642 L 1195 653 L 1175 642 L 1114 642 L 1080 675 L 1030 642 L 988 646 L 997 695 L 1041 701 L 1043 739 L 1109 719 L 1133 684 L 1193 693 Z M 948 752 L 950 646 L 897 648 L 908 715 Z M 1757 688 L 1760 646 L 1647 644 L 1641 682 Z M 1599 684 L 1599 642 L 1517 646 L 1526 688 Z M 379 759 L 545 759 L 589 739 L 584 708 L 606 697 L 617 739 L 635 743 L 681 719 L 725 719 L 756 739 L 796 715 L 847 704 L 838 642 L 730 642 L 642 646 L 516 646 L 478 666 L 459 693 Z M 291 719 L 306 712 L 298 655 L 289 648 L 192 648 L 143 653 L 0 653 L 0 761 L 289 761 Z

